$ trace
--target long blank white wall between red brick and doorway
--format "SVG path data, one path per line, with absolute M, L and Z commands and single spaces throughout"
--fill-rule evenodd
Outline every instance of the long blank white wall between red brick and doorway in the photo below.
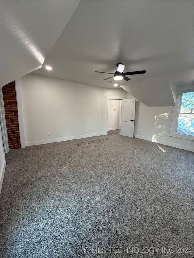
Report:
M 104 133 L 101 88 L 36 74 L 20 82 L 26 146 Z

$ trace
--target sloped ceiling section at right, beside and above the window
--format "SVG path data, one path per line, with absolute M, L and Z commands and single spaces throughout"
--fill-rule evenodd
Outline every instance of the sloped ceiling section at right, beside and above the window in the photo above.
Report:
M 121 87 L 146 106 L 174 106 L 177 87 L 193 85 L 193 68 L 132 82 Z

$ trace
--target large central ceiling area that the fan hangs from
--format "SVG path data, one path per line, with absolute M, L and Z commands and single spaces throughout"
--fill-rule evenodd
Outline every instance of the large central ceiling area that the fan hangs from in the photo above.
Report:
M 193 67 L 193 1 L 81 1 L 33 73 L 112 88 L 94 71 L 114 73 L 118 62 L 146 70 L 121 85 Z

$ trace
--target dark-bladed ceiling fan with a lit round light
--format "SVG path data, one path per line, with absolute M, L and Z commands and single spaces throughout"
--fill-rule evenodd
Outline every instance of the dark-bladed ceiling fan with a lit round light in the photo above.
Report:
M 142 74 L 142 73 L 146 73 L 145 70 L 143 71 L 135 71 L 135 72 L 127 72 L 127 73 L 123 73 L 124 69 L 125 69 L 125 65 L 118 63 L 116 64 L 117 66 L 117 71 L 115 73 L 109 73 L 109 74 L 114 74 L 113 76 L 106 78 L 104 80 L 108 80 L 112 77 L 114 77 L 115 80 L 125 80 L 125 81 L 129 81 L 130 79 L 128 77 L 126 77 L 125 75 L 133 75 L 133 74 Z M 95 71 L 95 73 L 105 73 L 105 72 L 97 72 Z

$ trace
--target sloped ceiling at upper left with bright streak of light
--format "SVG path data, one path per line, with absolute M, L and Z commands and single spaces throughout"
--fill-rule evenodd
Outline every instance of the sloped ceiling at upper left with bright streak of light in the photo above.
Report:
M 40 67 L 79 1 L 0 1 L 0 85 Z

